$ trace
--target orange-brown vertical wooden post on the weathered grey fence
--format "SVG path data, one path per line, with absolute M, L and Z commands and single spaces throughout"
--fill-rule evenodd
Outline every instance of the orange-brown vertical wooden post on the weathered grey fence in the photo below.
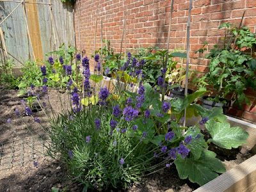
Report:
M 28 2 L 36 3 L 36 0 L 28 0 Z M 45 5 L 48 6 L 48 5 Z M 26 3 L 26 12 L 28 15 L 29 33 L 31 36 L 31 44 L 35 53 L 36 60 L 44 60 L 40 26 L 37 12 L 37 5 Z

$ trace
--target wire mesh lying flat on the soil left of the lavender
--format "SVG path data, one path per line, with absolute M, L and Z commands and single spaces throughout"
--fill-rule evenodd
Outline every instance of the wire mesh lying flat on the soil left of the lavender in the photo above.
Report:
M 33 137 L 0 143 L 0 147 L 0 170 L 36 162 L 40 157 L 44 157 L 45 152 L 44 140 Z

